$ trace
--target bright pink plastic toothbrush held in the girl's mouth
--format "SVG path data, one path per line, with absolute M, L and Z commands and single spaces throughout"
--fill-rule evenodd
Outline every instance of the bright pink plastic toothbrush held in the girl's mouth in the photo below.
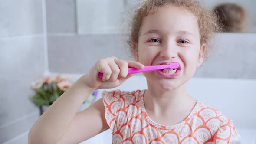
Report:
M 153 66 L 144 66 L 143 69 L 136 69 L 136 68 L 129 68 L 128 69 L 128 75 L 133 74 L 133 73 L 140 73 L 140 72 L 150 72 L 154 70 L 159 70 L 159 69 L 177 69 L 179 68 L 179 64 L 177 62 L 170 63 L 169 65 L 153 65 Z M 98 77 L 102 78 L 103 73 L 99 72 Z

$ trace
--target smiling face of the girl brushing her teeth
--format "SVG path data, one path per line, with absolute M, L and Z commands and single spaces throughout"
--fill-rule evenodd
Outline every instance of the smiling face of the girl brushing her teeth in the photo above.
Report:
M 144 18 L 135 47 L 135 58 L 144 65 L 179 63 L 177 71 L 164 69 L 144 73 L 148 82 L 162 90 L 187 82 L 202 64 L 205 50 L 205 45 L 200 45 L 197 18 L 172 5 L 160 7 Z

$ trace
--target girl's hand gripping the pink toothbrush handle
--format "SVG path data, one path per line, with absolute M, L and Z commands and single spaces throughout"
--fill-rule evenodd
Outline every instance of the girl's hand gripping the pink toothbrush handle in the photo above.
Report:
M 139 62 L 125 61 L 115 56 L 99 59 L 98 62 L 84 75 L 85 84 L 92 89 L 115 88 L 125 82 L 131 76 L 128 75 L 128 68 L 134 67 L 143 69 L 144 65 Z M 103 73 L 103 78 L 98 77 L 98 73 Z M 82 78 L 83 79 L 83 78 Z

